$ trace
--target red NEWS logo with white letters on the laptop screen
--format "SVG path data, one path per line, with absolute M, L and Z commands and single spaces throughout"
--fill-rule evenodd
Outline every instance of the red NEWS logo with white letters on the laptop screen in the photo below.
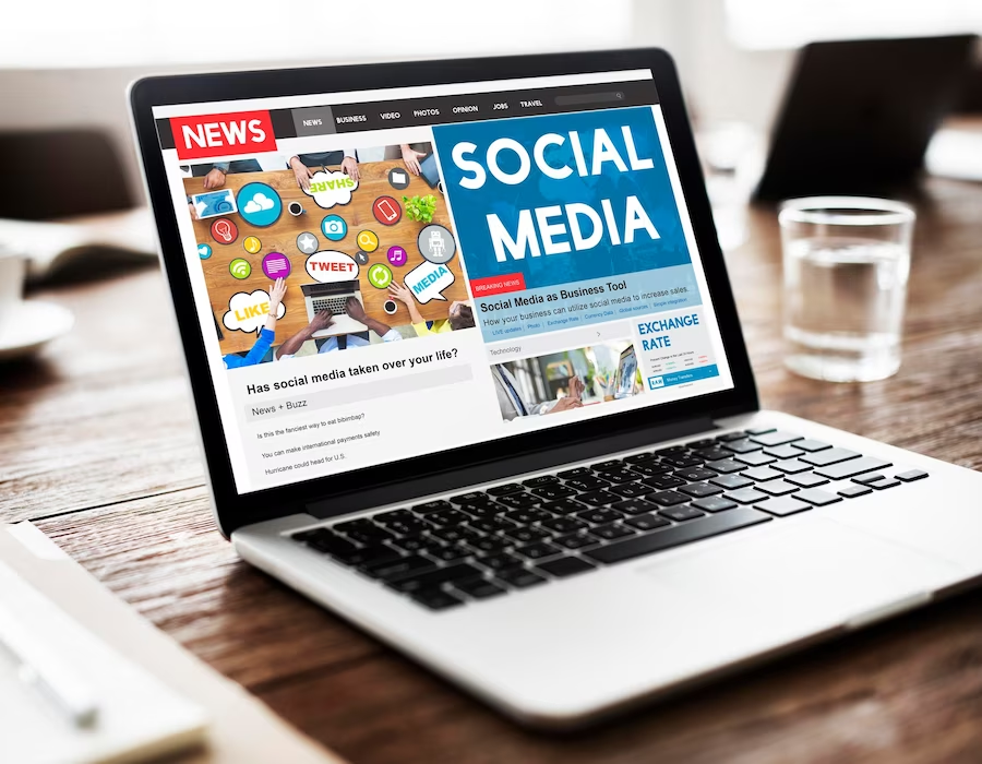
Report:
M 171 117 L 170 131 L 179 159 L 276 151 L 268 111 Z

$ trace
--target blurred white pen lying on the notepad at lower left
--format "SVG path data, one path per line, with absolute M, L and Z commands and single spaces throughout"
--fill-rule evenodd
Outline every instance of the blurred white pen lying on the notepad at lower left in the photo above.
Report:
M 17 676 L 44 695 L 75 727 L 92 727 L 99 715 L 95 694 L 77 672 L 31 635 L 0 607 L 0 650 L 17 662 Z

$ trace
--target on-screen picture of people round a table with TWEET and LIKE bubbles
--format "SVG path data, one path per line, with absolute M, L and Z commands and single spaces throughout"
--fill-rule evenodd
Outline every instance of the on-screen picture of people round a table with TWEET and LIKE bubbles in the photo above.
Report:
M 182 168 L 227 368 L 475 326 L 431 144 L 278 147 Z

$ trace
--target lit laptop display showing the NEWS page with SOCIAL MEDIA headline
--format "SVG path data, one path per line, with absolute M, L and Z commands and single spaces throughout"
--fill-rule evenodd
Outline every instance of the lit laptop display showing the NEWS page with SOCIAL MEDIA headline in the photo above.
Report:
M 733 386 L 648 70 L 154 118 L 240 493 Z

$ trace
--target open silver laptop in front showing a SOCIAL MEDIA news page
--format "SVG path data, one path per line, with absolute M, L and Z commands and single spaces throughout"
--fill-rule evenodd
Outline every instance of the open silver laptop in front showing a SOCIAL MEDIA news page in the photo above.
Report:
M 131 100 L 219 530 L 502 713 L 583 726 L 982 575 L 978 474 L 762 409 L 664 51 L 164 76 Z M 474 321 L 225 369 L 178 167 L 318 151 L 311 108 L 327 145 L 432 142 L 433 222 L 373 230 L 452 232 L 445 262 L 392 270 L 421 311 L 463 282 Z M 495 363 L 625 339 L 638 394 L 504 420 Z

